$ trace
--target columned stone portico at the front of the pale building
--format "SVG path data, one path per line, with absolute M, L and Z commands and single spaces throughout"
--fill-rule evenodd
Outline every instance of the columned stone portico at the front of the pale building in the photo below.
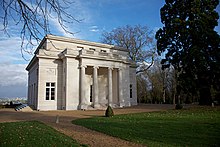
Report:
M 121 82 L 117 80 L 122 79 L 119 77 L 121 75 L 119 68 L 84 65 L 80 69 L 80 109 L 100 108 L 105 105 L 124 106 L 123 101 L 119 99 L 123 97 L 120 95 L 122 92 L 119 93 Z

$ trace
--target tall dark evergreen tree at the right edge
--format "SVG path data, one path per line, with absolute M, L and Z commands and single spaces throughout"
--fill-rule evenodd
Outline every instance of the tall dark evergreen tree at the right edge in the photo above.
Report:
M 211 89 L 220 91 L 220 37 L 214 30 L 218 0 L 166 0 L 161 8 L 164 27 L 156 33 L 157 51 L 165 53 L 163 68 L 178 71 L 177 91 L 199 94 L 211 103 Z

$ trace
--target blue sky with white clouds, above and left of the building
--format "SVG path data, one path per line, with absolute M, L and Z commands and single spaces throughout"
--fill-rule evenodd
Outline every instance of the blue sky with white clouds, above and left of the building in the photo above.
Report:
M 164 0 L 74 0 L 67 10 L 80 23 L 68 24 L 74 36 L 64 32 L 56 20 L 51 20 L 51 33 L 59 36 L 74 37 L 99 42 L 103 31 L 125 25 L 147 25 L 152 30 L 162 27 L 160 8 Z M 218 6 L 217 10 L 220 10 Z M 0 24 L 2 28 L 2 24 Z M 10 37 L 0 31 L 0 97 L 26 97 L 27 72 L 25 61 L 20 53 L 19 26 L 8 27 Z M 220 34 L 220 27 L 216 30 Z M 27 59 L 32 55 L 25 54 Z

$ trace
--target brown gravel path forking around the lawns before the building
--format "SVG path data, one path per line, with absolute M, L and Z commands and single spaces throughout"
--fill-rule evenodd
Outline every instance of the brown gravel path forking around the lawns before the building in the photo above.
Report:
M 173 105 L 141 105 L 123 109 L 114 109 L 114 113 L 128 114 L 161 111 L 174 108 Z M 71 123 L 74 119 L 88 118 L 93 116 L 103 116 L 103 110 L 88 111 L 33 111 L 33 112 L 16 112 L 13 109 L 0 109 L 1 122 L 29 121 L 38 120 L 54 129 L 72 137 L 77 142 L 88 144 L 91 147 L 139 147 L 140 144 L 131 143 L 116 137 L 111 137 Z M 59 116 L 59 123 L 56 123 L 56 117 Z

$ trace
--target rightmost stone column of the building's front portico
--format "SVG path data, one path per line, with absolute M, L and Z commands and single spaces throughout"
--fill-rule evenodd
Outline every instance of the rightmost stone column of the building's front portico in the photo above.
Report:
M 124 106 L 122 82 L 122 69 L 118 69 L 118 100 L 120 107 Z

